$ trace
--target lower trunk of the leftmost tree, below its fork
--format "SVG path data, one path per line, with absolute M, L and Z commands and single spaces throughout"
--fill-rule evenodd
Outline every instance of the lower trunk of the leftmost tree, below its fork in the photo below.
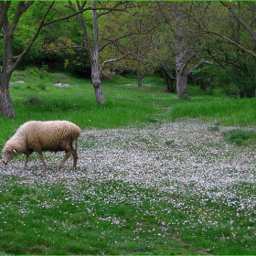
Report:
M 7 118 L 16 118 L 15 110 L 9 93 L 10 76 L 5 72 L 0 72 L 0 110 Z

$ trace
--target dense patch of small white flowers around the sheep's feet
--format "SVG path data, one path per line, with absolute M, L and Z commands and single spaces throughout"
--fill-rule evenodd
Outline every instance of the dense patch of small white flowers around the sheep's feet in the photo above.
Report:
M 251 191 L 256 183 L 255 147 L 226 143 L 221 132 L 231 127 L 220 127 L 219 132 L 210 131 L 209 127 L 209 123 L 190 120 L 154 123 L 144 128 L 85 130 L 79 140 L 77 170 L 72 168 L 70 157 L 64 169 L 59 171 L 63 153 L 45 153 L 48 170 L 43 170 L 37 156 L 30 160 L 27 170 L 22 171 L 24 159 L 21 157 L 10 165 L 0 167 L 0 190 L 1 187 L 5 189 L 8 181 L 15 177 L 20 185 L 67 187 L 67 200 L 74 201 L 74 204 L 85 201 L 88 208 L 83 210 L 92 215 L 94 202 L 90 199 L 86 201 L 85 195 L 97 197 L 105 206 L 120 203 L 139 206 L 145 200 L 154 205 L 166 203 L 169 207 L 162 208 L 162 213 L 171 216 L 175 208 L 189 215 L 184 222 L 170 219 L 165 223 L 157 217 L 157 212 L 144 213 L 158 218 L 163 229 L 178 225 L 193 228 L 201 223 L 208 223 L 209 227 L 217 229 L 220 224 L 216 216 L 219 214 L 220 218 L 223 213 L 210 211 L 207 206 L 219 201 L 224 206 L 237 208 L 238 218 L 245 213 L 255 216 L 256 196 L 246 192 Z M 125 189 L 113 186 L 106 191 L 106 197 L 104 189 L 99 188 L 114 182 L 119 183 L 119 188 L 123 184 Z M 138 187 L 142 188 L 142 192 L 138 192 Z M 155 197 L 147 197 L 144 189 L 155 191 Z M 179 199 L 170 195 L 178 195 Z M 188 205 L 183 198 L 191 200 L 191 204 Z M 201 211 L 195 212 L 193 198 L 199 202 Z M 38 208 L 52 208 L 55 204 L 46 200 L 37 205 Z M 20 212 L 26 213 L 27 209 Z M 211 218 L 213 215 L 215 220 Z M 107 212 L 99 220 L 113 225 L 125 224 L 125 219 L 112 217 Z M 228 224 L 232 225 L 232 221 L 229 219 Z M 250 226 L 247 229 L 255 228 Z

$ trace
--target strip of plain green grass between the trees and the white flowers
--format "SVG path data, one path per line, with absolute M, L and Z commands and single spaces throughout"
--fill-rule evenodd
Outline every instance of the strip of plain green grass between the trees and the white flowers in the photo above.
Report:
M 103 81 L 106 104 L 95 101 L 90 80 L 80 80 L 67 74 L 55 73 L 43 80 L 33 77 L 27 71 L 16 71 L 10 88 L 16 120 L 0 118 L 9 136 L 16 127 L 28 120 L 67 119 L 87 128 L 116 128 L 147 122 L 176 121 L 182 118 L 200 118 L 224 125 L 255 125 L 256 99 L 229 99 L 214 91 L 213 95 L 200 91 L 198 87 L 188 87 L 189 98 L 177 100 L 175 94 L 165 92 L 164 80 L 153 76 L 143 80 L 138 88 L 135 77 L 115 76 L 112 81 Z M 54 83 L 69 83 L 70 88 L 56 88 Z M 44 86 L 42 89 L 42 85 Z M 36 98 L 35 104 L 24 102 Z M 6 135 L 5 135 L 6 134 Z

